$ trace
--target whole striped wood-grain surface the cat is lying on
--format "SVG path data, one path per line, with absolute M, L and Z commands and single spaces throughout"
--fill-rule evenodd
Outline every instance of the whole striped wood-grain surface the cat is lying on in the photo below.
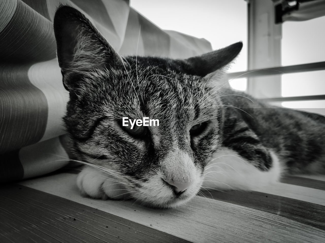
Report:
M 75 180 L 60 173 L 2 186 L 0 242 L 325 242 L 325 176 L 206 192 L 166 210 L 85 198 Z

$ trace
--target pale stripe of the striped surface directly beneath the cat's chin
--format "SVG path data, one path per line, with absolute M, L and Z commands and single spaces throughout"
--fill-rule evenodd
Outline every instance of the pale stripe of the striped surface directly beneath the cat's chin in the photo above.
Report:
M 82 203 L 190 242 L 323 242 L 325 231 L 281 215 L 196 196 L 175 209 L 145 208 L 133 201 L 83 198 L 75 174 L 59 174 L 21 184 Z M 258 202 L 256 202 L 258 203 Z

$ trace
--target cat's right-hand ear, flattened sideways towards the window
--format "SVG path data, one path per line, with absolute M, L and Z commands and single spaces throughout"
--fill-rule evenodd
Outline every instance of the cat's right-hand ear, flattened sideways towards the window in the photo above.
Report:
M 242 46 L 242 42 L 237 42 L 213 52 L 185 59 L 183 70 L 191 75 L 205 77 L 203 80 L 206 80 L 209 86 L 229 87 L 224 74 L 228 64 L 238 56 Z

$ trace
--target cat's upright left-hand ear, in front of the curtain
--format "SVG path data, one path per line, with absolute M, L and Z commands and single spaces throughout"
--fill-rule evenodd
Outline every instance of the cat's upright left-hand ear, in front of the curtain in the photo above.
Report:
M 123 65 L 121 57 L 91 22 L 70 6 L 59 6 L 54 16 L 59 66 L 69 90 L 76 76 Z

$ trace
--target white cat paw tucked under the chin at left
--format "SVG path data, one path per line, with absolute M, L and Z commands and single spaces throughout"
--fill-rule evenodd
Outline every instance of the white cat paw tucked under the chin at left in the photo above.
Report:
M 79 173 L 77 186 L 84 196 L 92 198 L 122 200 L 131 197 L 119 179 L 92 166 L 86 166 Z

